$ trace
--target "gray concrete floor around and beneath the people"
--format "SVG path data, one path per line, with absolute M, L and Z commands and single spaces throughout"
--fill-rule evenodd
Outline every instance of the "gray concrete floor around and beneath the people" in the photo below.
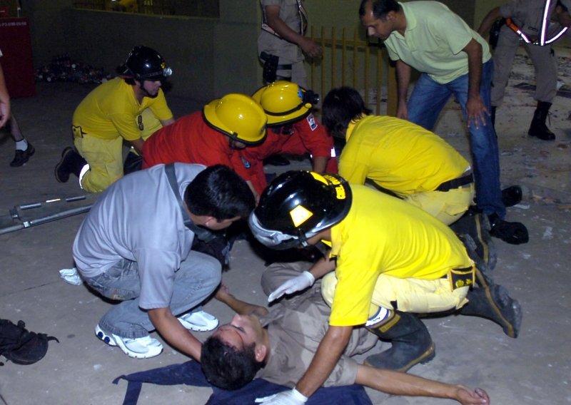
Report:
M 562 62 L 568 65 L 568 58 Z M 529 81 L 530 66 L 522 60 L 520 67 L 527 73 L 514 80 Z M 570 75 L 562 75 L 571 84 Z M 61 150 L 71 145 L 71 114 L 90 89 L 39 83 L 36 96 L 14 100 L 14 113 L 36 155 L 24 167 L 10 168 L 14 145 L 7 135 L 0 138 L 0 215 L 7 215 L 14 205 L 83 194 L 74 179 L 56 183 L 53 170 Z M 437 356 L 411 372 L 480 386 L 493 404 L 571 404 L 571 99 L 556 98 L 550 128 L 557 140 L 547 143 L 526 135 L 535 108 L 532 94 L 511 88 L 509 98 L 512 107 L 502 107 L 497 116 L 502 183 L 525 188 L 525 199 L 510 208 L 508 218 L 527 225 L 530 242 L 513 246 L 497 240 L 494 277 L 522 304 L 520 337 L 510 339 L 499 326 L 480 318 L 426 319 Z M 200 107 L 196 101 L 180 98 L 169 98 L 169 104 L 176 116 Z M 450 102 L 435 131 L 468 156 L 468 140 L 455 103 Z M 308 162 L 293 167 L 308 168 Z M 94 197 L 76 204 L 89 203 Z M 116 376 L 188 360 L 168 345 L 153 359 L 130 359 L 96 339 L 94 327 L 110 303 L 59 277 L 59 270 L 73 267 L 71 244 L 83 217 L 0 235 L 0 317 L 14 322 L 23 319 L 29 329 L 60 341 L 51 342 L 46 357 L 36 364 L 8 362 L 0 367 L 0 404 L 120 404 L 126 382 L 111 384 Z M 238 297 L 263 304 L 262 271 L 263 261 L 248 242 L 240 241 L 232 250 L 231 269 L 223 277 Z M 221 322 L 231 318 L 231 312 L 218 302 L 209 302 L 206 309 Z M 208 333 L 197 336 L 206 339 Z M 385 348 L 379 344 L 374 350 L 380 349 Z M 210 394 L 208 388 L 146 384 L 140 404 L 204 404 Z M 369 394 L 373 403 L 383 405 L 451 403 Z

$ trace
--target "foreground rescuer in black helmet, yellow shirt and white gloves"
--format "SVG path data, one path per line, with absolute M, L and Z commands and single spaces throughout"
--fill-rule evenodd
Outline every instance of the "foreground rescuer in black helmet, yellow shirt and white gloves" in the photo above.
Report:
M 495 284 L 481 281 L 482 287 L 470 289 L 475 266 L 463 243 L 443 222 L 398 198 L 337 175 L 291 171 L 264 191 L 249 225 L 274 249 L 320 242 L 331 247 L 308 272 L 268 297 L 301 291 L 325 276 L 321 288 L 331 307 L 327 330 L 295 389 L 268 404 L 312 395 L 331 375 L 354 327 L 364 325 L 393 344 L 366 364 L 399 371 L 435 355 L 430 333 L 414 313 L 468 308 L 517 337 L 519 303 Z

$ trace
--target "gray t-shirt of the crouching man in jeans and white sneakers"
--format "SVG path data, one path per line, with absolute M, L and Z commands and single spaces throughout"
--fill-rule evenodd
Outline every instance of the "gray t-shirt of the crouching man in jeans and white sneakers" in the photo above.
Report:
M 176 163 L 181 196 L 203 165 Z M 126 175 L 107 188 L 79 227 L 74 260 L 82 277 L 91 278 L 119 260 L 137 262 L 139 306 L 168 307 L 175 272 L 191 251 L 194 234 L 168 184 L 163 165 Z

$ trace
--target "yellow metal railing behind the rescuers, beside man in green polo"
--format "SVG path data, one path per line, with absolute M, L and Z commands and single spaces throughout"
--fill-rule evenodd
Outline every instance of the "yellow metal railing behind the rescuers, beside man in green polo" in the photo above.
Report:
M 377 115 L 395 116 L 397 92 L 395 68 L 388 62 L 385 48 L 378 43 L 363 41 L 359 29 L 338 29 L 316 34 L 310 29 L 310 39 L 323 48 L 321 61 L 309 61 L 308 83 L 323 99 L 332 88 L 351 86 L 357 89 L 368 108 Z

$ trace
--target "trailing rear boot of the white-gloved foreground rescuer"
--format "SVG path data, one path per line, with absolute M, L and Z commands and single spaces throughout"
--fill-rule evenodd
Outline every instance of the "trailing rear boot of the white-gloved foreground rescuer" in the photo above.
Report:
M 460 309 L 460 314 L 490 319 L 509 337 L 515 338 L 520 333 L 522 307 L 502 285 L 471 289 L 466 298 L 469 302 Z

